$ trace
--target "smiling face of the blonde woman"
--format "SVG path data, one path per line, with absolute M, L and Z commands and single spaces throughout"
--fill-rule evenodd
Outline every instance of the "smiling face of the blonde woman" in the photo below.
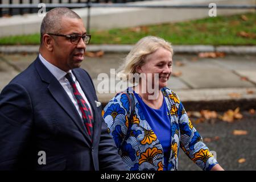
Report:
M 172 73 L 172 53 L 165 48 L 158 48 L 154 53 L 151 53 L 146 57 L 146 63 L 137 67 L 137 72 L 145 73 L 146 79 L 144 81 L 152 85 L 155 88 L 154 74 L 158 74 L 159 89 L 167 86 L 167 81 Z M 151 74 L 148 74 L 151 73 Z M 151 79 L 148 79 L 150 78 Z M 152 80 L 152 81 L 151 81 Z

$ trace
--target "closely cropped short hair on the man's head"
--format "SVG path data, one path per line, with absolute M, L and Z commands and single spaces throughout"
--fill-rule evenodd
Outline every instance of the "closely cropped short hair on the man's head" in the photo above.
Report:
M 61 30 L 61 19 L 65 18 L 77 18 L 81 17 L 74 11 L 68 9 L 67 7 L 56 7 L 48 11 L 46 16 L 44 16 L 41 28 L 40 28 L 40 42 L 43 43 L 43 35 L 46 33 L 59 34 Z

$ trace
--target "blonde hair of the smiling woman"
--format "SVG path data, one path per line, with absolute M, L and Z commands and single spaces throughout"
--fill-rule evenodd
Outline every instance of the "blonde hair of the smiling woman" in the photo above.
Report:
M 117 73 L 117 76 L 125 77 L 126 80 L 131 81 L 129 80 L 129 74 L 137 73 L 136 68 L 146 63 L 147 55 L 154 53 L 160 47 L 167 49 L 173 55 L 174 51 L 171 43 L 162 38 L 146 36 L 139 40 L 125 57 L 123 65 L 118 69 L 119 72 Z

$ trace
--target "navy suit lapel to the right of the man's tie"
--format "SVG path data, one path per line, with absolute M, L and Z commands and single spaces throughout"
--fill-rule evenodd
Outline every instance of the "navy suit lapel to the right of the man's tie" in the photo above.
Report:
M 90 103 L 90 107 L 92 107 L 92 111 L 93 111 L 93 141 L 95 141 L 95 138 L 98 136 L 98 134 L 96 133 L 96 131 L 98 130 L 98 127 L 100 125 L 100 122 L 96 122 L 98 121 L 98 119 L 100 120 L 100 118 L 98 118 L 98 109 L 96 107 L 96 103 L 94 101 L 94 97 L 93 97 L 93 93 L 92 90 L 93 88 L 91 88 L 91 86 L 89 86 L 90 84 L 88 84 L 89 78 L 86 78 L 84 74 L 81 75 L 81 73 L 79 71 L 77 71 L 76 69 L 72 70 L 73 74 L 76 76 L 77 81 L 79 82 L 82 91 L 84 92 L 88 102 Z

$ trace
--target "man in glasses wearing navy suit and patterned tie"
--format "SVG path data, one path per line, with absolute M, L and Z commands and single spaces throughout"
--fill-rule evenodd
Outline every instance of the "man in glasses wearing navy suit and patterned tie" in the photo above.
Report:
M 52 9 L 39 56 L 0 94 L 0 169 L 124 170 L 84 59 L 79 15 Z

